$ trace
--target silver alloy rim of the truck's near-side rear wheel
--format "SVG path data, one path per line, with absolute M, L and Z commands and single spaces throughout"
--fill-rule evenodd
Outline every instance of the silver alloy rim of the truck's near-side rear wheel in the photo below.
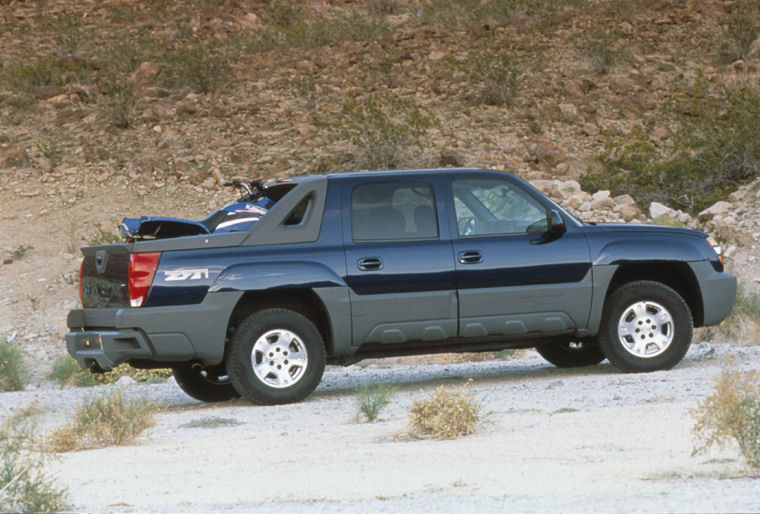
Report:
M 297 383 L 309 364 L 303 341 L 290 330 L 270 330 L 251 351 L 253 372 L 269 387 L 282 389 Z

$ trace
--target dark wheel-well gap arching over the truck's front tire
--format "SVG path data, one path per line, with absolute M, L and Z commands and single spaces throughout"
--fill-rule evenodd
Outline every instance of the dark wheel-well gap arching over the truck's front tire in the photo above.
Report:
M 686 262 L 636 262 L 621 264 L 607 287 L 604 305 L 616 289 L 638 280 L 651 280 L 664 284 L 684 299 L 689 307 L 695 327 L 704 325 L 704 306 L 697 277 Z

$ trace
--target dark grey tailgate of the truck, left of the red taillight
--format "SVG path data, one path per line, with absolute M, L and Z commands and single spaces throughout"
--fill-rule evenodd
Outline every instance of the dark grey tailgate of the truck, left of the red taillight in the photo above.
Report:
M 82 248 L 82 306 L 85 308 L 129 307 L 128 243 Z

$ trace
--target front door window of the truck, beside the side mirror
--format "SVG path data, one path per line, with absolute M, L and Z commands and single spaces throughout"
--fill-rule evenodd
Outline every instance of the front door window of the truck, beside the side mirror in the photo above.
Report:
M 546 208 L 510 182 L 455 180 L 452 191 L 460 237 L 540 234 L 548 230 Z

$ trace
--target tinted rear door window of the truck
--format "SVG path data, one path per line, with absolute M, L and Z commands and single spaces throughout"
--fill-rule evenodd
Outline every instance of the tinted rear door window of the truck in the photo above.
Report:
M 354 241 L 437 239 L 433 189 L 425 182 L 362 184 L 351 192 Z

